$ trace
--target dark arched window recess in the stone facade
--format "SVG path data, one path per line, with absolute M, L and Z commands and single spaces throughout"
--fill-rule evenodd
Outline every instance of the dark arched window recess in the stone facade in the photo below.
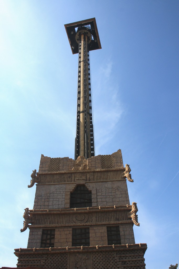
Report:
M 92 196 L 91 192 L 84 186 L 78 185 L 74 192 L 71 192 L 70 196 L 70 207 L 91 207 L 92 206 Z

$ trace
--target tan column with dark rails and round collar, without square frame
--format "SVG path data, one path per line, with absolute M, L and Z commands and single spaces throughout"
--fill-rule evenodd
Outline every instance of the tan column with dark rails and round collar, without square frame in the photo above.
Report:
M 82 32 L 83 33 L 80 36 L 78 34 L 79 61 L 75 160 L 78 156 L 85 156 L 86 159 L 94 156 L 90 62 L 88 51 L 90 32 L 87 30 Z

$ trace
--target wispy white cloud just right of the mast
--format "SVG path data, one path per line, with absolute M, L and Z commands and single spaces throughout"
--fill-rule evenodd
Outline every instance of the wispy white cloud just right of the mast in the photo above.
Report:
M 97 152 L 114 136 L 116 125 L 123 113 L 123 108 L 119 100 L 119 85 L 112 74 L 111 60 L 106 60 L 101 65 L 96 77 L 98 84 L 95 90 L 93 122 Z

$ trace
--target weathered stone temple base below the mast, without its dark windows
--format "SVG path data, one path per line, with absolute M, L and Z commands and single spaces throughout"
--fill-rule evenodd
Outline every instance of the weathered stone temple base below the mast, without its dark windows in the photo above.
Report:
M 27 223 L 28 249 L 16 251 L 17 267 L 144 269 L 147 246 L 135 245 L 137 207 L 129 205 L 124 172 L 120 150 L 87 160 L 79 156 L 76 161 L 42 155 L 34 209 L 29 210 L 33 221 Z M 92 207 L 70 208 L 70 194 L 77 185 L 85 185 L 92 193 Z M 107 226 L 113 225 L 119 225 L 122 245 L 107 246 Z M 72 247 L 72 229 L 78 227 L 89 227 L 90 247 Z M 54 248 L 49 252 L 41 249 L 43 229 L 55 229 Z

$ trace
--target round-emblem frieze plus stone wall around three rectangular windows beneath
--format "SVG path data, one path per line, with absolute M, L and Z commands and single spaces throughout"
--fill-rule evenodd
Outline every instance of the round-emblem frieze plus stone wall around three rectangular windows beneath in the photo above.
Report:
M 41 246 L 43 228 L 55 229 L 55 247 L 72 244 L 72 228 L 89 227 L 90 246 L 107 245 L 107 226 L 119 225 L 122 244 L 134 244 L 131 205 L 29 210 L 31 217 L 28 248 Z

